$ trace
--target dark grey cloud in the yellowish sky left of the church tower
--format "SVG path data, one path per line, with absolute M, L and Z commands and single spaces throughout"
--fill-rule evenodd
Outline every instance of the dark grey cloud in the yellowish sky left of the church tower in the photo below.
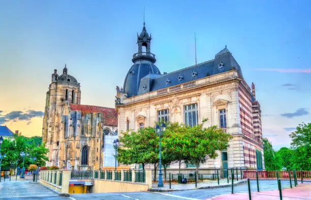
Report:
M 44 116 L 44 112 L 42 111 L 28 110 L 26 112 L 22 112 L 20 110 L 17 110 L 17 111 L 9 112 L 7 115 L 0 117 L 0 124 L 4 124 L 5 122 L 10 121 L 10 120 L 13 120 L 13 122 L 16 122 L 17 120 L 29 121 L 32 118 L 43 117 L 43 116 Z

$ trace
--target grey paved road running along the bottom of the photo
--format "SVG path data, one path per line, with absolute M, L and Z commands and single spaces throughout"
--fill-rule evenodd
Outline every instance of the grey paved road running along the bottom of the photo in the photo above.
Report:
M 310 184 L 310 183 L 305 183 Z M 282 188 L 288 188 L 289 181 L 282 181 Z M 260 190 L 277 189 L 277 183 L 274 180 L 260 181 Z M 251 181 L 251 190 L 256 191 L 256 181 Z M 234 187 L 234 192 L 247 192 L 247 184 Z M 207 199 L 213 196 L 231 193 L 231 188 L 216 189 L 197 189 L 186 191 L 172 191 L 163 193 L 154 192 L 123 192 L 123 193 L 88 193 L 88 194 L 72 194 L 70 197 L 58 196 L 55 192 L 43 187 L 40 184 L 31 184 L 27 181 L 6 182 L 0 184 L 0 200 L 30 200 L 30 199 L 47 199 L 47 200 L 181 200 L 181 199 Z M 41 196 L 40 196 L 41 195 Z

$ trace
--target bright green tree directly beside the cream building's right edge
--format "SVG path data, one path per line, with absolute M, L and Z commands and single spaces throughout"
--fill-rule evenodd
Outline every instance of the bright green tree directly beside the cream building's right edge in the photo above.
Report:
M 267 138 L 263 138 L 263 146 L 266 170 L 281 170 L 281 157 L 275 153 L 271 142 Z

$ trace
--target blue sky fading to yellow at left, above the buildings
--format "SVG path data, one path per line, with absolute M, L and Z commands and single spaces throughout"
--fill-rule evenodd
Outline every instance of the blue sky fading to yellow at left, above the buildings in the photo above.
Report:
M 0 0 L 0 125 L 42 134 L 51 74 L 81 83 L 81 104 L 114 107 L 145 22 L 161 72 L 214 58 L 225 45 L 256 85 L 274 148 L 311 122 L 310 1 Z

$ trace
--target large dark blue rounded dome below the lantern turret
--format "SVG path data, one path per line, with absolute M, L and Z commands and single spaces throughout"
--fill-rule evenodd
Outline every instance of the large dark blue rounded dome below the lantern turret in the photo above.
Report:
M 141 78 L 148 74 L 161 74 L 161 72 L 149 61 L 135 62 L 125 78 L 123 92 L 127 93 L 128 97 L 136 96 Z

